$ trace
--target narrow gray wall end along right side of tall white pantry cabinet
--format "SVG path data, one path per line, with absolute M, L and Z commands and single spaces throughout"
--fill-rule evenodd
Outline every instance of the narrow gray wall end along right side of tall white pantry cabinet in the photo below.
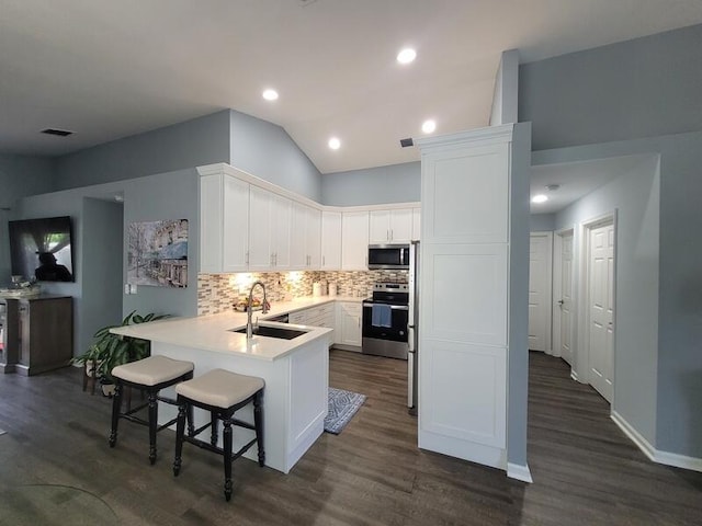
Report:
M 520 123 L 512 136 L 509 245 L 509 389 L 507 461 L 526 466 L 529 385 L 529 180 L 531 126 Z

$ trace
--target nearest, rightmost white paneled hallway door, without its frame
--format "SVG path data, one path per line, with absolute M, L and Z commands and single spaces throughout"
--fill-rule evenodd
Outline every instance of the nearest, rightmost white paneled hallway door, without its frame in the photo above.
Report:
M 612 402 L 614 378 L 614 226 L 590 229 L 589 381 Z

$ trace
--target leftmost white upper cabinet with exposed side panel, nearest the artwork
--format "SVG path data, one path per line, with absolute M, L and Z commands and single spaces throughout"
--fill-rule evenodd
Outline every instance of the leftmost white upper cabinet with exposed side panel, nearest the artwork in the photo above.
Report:
M 218 173 L 200 180 L 200 272 L 248 268 L 249 183 Z

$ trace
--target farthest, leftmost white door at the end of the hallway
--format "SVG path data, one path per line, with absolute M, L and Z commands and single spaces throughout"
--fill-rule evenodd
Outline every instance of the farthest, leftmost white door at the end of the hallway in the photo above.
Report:
M 551 354 L 552 232 L 532 232 L 529 250 L 529 348 Z

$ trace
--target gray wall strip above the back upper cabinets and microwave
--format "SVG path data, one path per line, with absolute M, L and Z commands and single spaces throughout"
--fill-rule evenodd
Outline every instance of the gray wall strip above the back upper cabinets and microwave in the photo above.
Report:
M 381 205 L 420 201 L 421 163 L 328 173 L 321 176 L 321 204 Z

